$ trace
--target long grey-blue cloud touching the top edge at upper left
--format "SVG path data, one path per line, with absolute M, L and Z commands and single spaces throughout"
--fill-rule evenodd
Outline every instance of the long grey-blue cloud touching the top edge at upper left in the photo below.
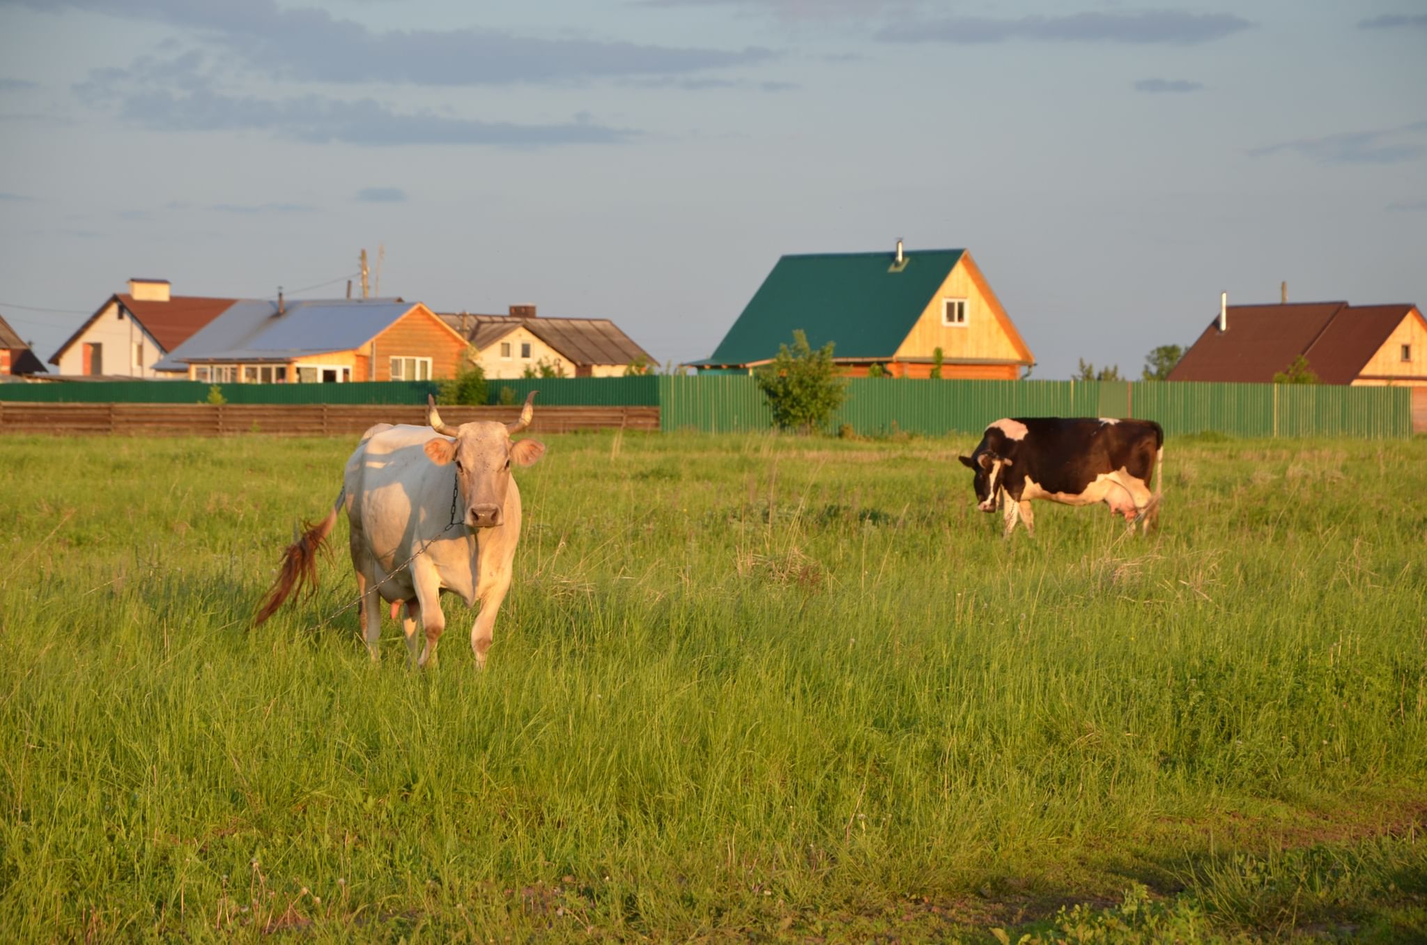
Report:
M 499 30 L 385 30 L 275 0 L 14 0 L 157 20 L 188 31 L 265 77 L 417 86 L 569 83 L 669 76 L 773 59 L 762 47 L 719 50 L 586 39 L 522 37 Z

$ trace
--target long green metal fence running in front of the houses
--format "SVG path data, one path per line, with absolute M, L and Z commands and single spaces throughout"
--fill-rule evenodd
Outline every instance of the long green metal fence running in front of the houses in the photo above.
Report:
M 421 404 L 437 384 L 223 384 L 220 390 L 230 404 Z M 538 390 L 537 404 L 552 407 L 659 407 L 665 431 L 741 433 L 772 425 L 768 403 L 746 374 L 491 380 L 487 390 L 491 403 L 519 403 Z M 0 400 L 17 401 L 193 404 L 207 397 L 208 384 L 194 381 L 0 388 Z M 1140 417 L 1159 421 L 1169 435 L 1410 437 L 1411 393 L 1326 384 L 855 378 L 829 430 L 848 424 L 859 434 L 975 434 L 1002 417 Z

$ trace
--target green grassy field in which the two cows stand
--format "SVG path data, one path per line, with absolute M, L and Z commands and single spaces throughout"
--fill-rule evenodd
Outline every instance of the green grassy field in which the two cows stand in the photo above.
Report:
M 345 521 L 245 625 L 351 438 L 0 438 L 6 936 L 1427 936 L 1427 440 L 1010 542 L 969 438 L 547 444 L 422 674 Z

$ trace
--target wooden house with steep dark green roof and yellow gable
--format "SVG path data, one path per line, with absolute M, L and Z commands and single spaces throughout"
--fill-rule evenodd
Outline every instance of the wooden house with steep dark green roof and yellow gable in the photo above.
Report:
M 1035 364 L 966 250 L 785 256 L 701 371 L 751 371 L 802 330 L 842 373 L 1016 380 Z

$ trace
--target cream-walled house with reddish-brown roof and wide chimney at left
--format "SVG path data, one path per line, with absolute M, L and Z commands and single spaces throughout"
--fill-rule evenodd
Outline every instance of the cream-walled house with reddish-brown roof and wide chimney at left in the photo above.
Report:
M 166 278 L 131 278 L 128 291 L 104 300 L 50 364 L 70 377 L 174 377 L 156 365 L 234 301 L 174 295 Z

